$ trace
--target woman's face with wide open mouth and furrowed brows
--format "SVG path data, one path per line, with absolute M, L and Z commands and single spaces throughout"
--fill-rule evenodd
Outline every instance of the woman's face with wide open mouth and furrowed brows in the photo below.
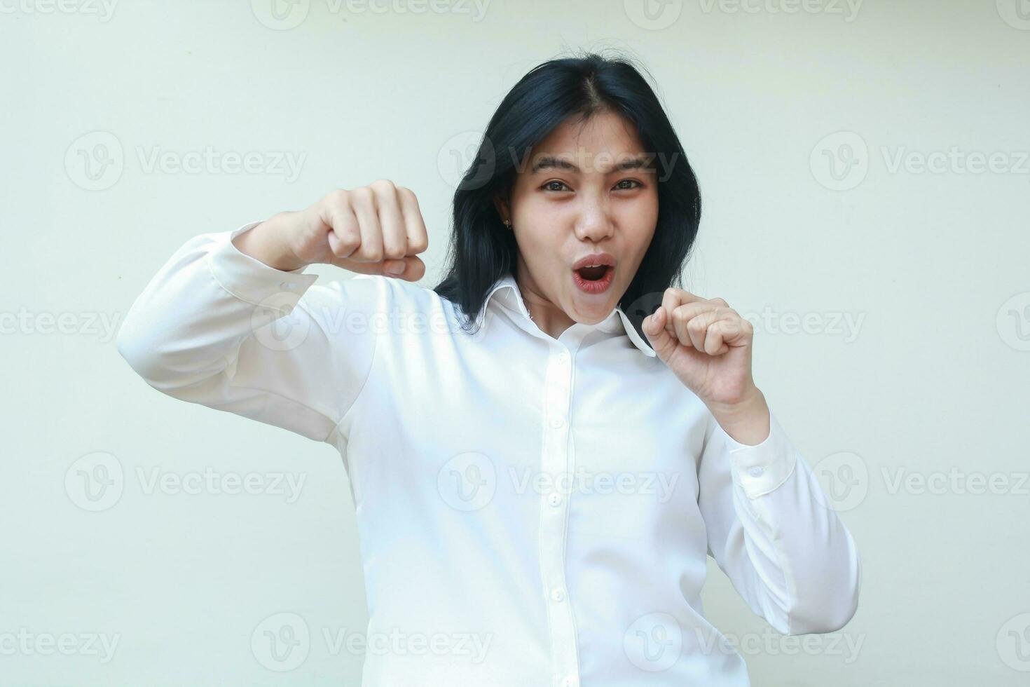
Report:
M 502 202 L 499 211 L 512 222 L 514 276 L 538 324 L 593 324 L 618 305 L 658 221 L 653 160 L 621 117 L 605 112 L 561 124 L 520 161 L 511 208 Z M 577 271 L 583 262 L 608 267 Z

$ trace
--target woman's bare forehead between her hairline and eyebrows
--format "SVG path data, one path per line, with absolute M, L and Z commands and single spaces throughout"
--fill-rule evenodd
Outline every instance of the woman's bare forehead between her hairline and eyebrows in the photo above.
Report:
M 598 113 L 585 122 L 570 117 L 534 146 L 525 171 L 533 173 L 540 161 L 556 158 L 585 173 L 604 172 L 644 152 L 632 125 L 617 114 Z

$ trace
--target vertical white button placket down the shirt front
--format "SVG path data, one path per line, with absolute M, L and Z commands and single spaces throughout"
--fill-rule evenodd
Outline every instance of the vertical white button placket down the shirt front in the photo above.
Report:
M 550 619 L 555 684 L 579 683 L 579 657 L 572 606 L 565 592 L 564 547 L 568 505 L 564 489 L 569 475 L 569 413 L 572 397 L 572 355 L 560 343 L 552 344 L 544 379 L 543 454 L 541 470 L 550 491 L 541 494 L 540 564 L 545 604 Z M 571 681 L 571 682 L 569 682 Z

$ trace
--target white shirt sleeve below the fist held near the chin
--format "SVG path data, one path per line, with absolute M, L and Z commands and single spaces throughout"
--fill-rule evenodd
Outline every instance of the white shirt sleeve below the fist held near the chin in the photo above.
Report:
M 861 580 L 851 533 L 776 415 L 754 446 L 709 419 L 698 467 L 709 554 L 778 632 L 840 629 L 858 607 Z

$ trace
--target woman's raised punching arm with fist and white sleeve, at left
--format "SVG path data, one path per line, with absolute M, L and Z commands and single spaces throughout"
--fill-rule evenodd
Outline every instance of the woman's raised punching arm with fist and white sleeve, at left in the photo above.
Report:
M 163 393 L 324 441 L 368 380 L 373 316 L 389 309 L 383 280 L 363 277 L 416 281 L 426 245 L 414 194 L 383 180 L 202 234 L 132 304 L 118 351 Z M 313 285 L 315 263 L 360 274 Z

